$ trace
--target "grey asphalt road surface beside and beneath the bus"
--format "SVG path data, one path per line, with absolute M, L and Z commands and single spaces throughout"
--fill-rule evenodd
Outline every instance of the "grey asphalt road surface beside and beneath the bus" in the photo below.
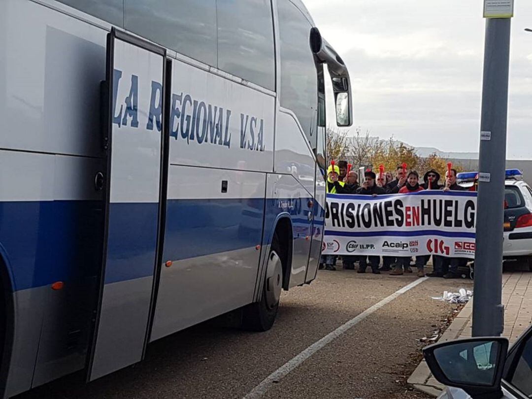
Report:
M 310 286 L 284 293 L 275 326 L 252 333 L 213 323 L 163 338 L 146 359 L 84 384 L 81 373 L 19 396 L 27 398 L 243 398 L 331 331 L 417 280 L 414 275 L 319 271 Z M 425 398 L 405 384 L 423 337 L 456 305 L 431 299 L 471 280 L 429 278 L 393 297 L 261 390 L 266 398 Z M 388 298 L 389 299 L 389 298 Z M 256 397 L 256 396 L 255 396 Z

